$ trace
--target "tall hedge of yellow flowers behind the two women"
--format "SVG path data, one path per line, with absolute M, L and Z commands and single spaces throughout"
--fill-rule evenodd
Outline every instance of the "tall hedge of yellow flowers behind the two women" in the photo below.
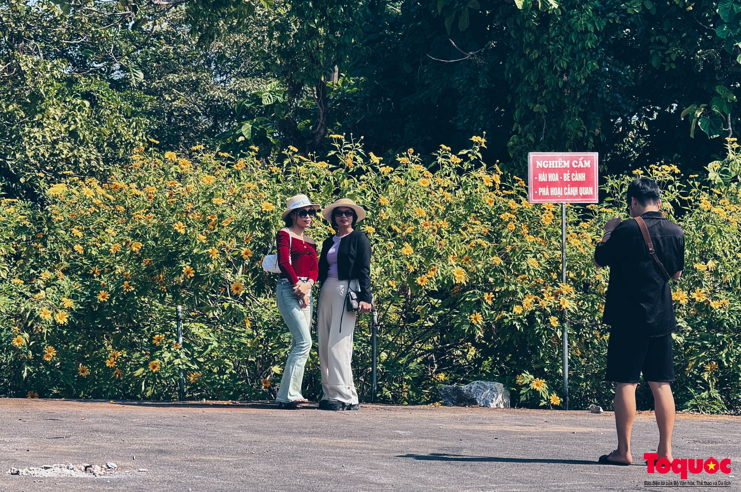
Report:
M 605 222 L 625 218 L 632 176 L 606 180 L 610 201 L 567 207 L 562 283 L 559 206 L 529 204 L 522 179 L 482 162 L 482 137 L 471 149 L 441 146 L 428 159 L 410 151 L 383 167 L 351 136 L 333 140 L 323 160 L 293 150 L 260 162 L 255 153 L 139 149 L 105 180 L 65 175 L 48 185 L 38 220 L 19 202 L 1 202 L 5 387 L 21 396 L 35 388 L 171 399 L 182 370 L 189 397 L 273 397 L 290 336 L 276 309 L 277 276 L 260 264 L 285 199 L 307 193 L 321 204 L 347 196 L 368 210 L 359 227 L 373 247 L 383 399 L 429 402 L 441 373 L 513 389 L 525 381 L 518 374 L 531 374 L 523 388 L 536 399 L 522 404 L 559 405 L 567 320 L 572 407 L 611 399 L 602 382 L 609 330 L 599 325 L 609 272 L 591 257 Z M 686 269 L 672 282 L 677 402 L 712 381 L 725 405 L 740 406 L 741 349 L 731 334 L 741 322 L 740 187 L 680 182 L 671 166 L 645 175 L 659 181 L 665 212 L 686 233 Z M 321 245 L 330 226 L 317 218 L 308 234 Z M 364 395 L 369 319 L 359 317 L 356 336 Z M 703 372 L 711 362 L 717 370 Z M 316 396 L 316 353 L 306 370 L 305 394 Z

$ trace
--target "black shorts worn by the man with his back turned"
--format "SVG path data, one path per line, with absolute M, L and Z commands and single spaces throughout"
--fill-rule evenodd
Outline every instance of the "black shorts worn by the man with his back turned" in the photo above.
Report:
M 671 333 L 663 336 L 634 336 L 612 330 L 607 348 L 607 374 L 614 382 L 674 381 L 674 352 Z

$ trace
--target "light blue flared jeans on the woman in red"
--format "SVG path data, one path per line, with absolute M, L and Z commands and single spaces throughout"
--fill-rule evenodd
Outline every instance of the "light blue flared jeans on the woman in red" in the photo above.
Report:
M 304 367 L 311 350 L 311 293 L 309 305 L 301 308 L 299 298 L 293 293 L 293 285 L 288 279 L 279 279 L 276 287 L 278 310 L 285 324 L 293 335 L 293 342 L 285 362 L 283 378 L 278 388 L 276 402 L 290 403 L 302 399 L 301 383 L 304 379 Z

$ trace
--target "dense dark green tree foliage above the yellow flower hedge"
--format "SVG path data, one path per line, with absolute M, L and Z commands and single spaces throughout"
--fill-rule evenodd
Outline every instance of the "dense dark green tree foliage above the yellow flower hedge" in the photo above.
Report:
M 353 133 L 393 156 L 485 131 L 514 172 L 531 150 L 598 150 L 610 173 L 692 173 L 741 127 L 739 0 L 61 5 L 0 4 L 18 193 L 47 167 L 102 172 L 144 133 L 264 155 Z

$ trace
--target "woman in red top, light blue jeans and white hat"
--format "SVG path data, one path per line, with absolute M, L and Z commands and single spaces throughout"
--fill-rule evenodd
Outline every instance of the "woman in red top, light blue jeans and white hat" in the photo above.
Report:
M 319 210 L 306 195 L 288 199 L 283 220 L 285 227 L 276 234 L 278 266 L 281 276 L 276 287 L 278 310 L 293 336 L 293 343 L 285 362 L 285 370 L 278 388 L 276 403 L 279 408 L 301 408 L 308 401 L 301 394 L 304 367 L 311 349 L 311 287 L 316 282 L 319 267 L 316 260 L 316 242 L 305 236 L 305 229 Z

